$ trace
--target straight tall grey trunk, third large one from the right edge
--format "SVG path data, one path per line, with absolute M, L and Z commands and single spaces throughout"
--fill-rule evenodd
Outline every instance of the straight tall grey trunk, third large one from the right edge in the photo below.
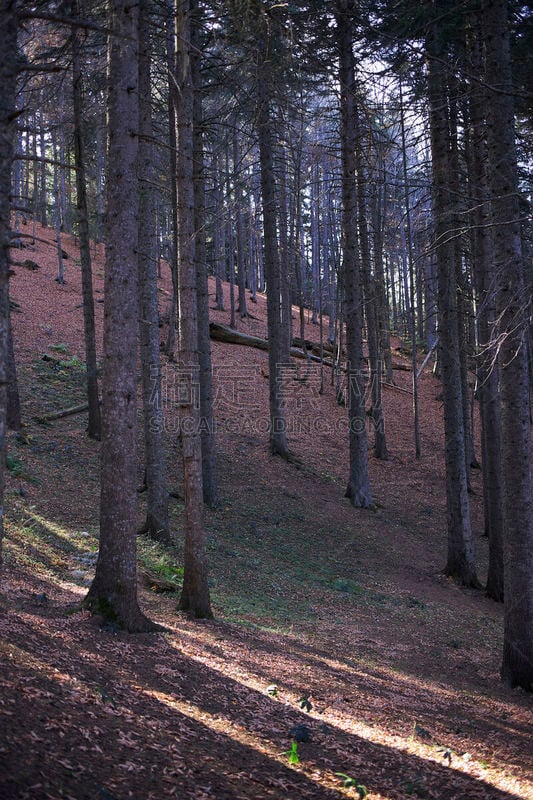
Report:
M 437 3 L 437 12 L 440 4 Z M 474 565 L 465 462 L 463 398 L 457 325 L 457 283 L 453 246 L 453 198 L 444 80 L 442 31 L 432 24 L 428 42 L 433 212 L 438 273 L 440 365 L 444 401 L 448 558 L 445 574 L 466 586 L 478 586 Z

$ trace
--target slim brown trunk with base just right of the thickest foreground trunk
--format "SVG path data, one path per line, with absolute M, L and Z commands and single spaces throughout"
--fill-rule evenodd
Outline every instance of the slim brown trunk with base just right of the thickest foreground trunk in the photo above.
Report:
M 195 257 L 193 170 L 194 87 L 191 72 L 189 0 L 176 7 L 176 74 L 173 93 L 177 128 L 176 178 L 179 236 L 179 436 L 185 489 L 183 589 L 179 608 L 196 618 L 210 618 L 207 580 L 200 437 L 198 297 Z

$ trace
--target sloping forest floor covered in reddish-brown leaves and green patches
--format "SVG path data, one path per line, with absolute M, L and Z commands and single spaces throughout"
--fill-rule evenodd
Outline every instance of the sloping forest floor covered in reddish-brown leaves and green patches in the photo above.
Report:
M 439 384 L 426 368 L 417 461 L 409 358 L 399 349 L 403 369 L 384 389 L 390 458 L 369 451 L 376 508 L 361 511 L 344 498 L 346 410 L 329 370 L 322 392 L 319 366 L 295 362 L 299 372 L 287 375 L 299 460 L 287 464 L 268 453 L 267 354 L 213 342 L 220 503 L 206 524 L 215 620 L 191 621 L 176 611 L 176 593 L 154 591 L 154 575 L 179 589 L 179 500 L 175 552 L 138 540 L 141 605 L 165 631 L 128 635 L 80 610 L 98 549 L 98 443 L 84 414 L 36 419 L 84 401 L 79 255 L 65 236 L 59 285 L 53 231 L 35 232 L 48 244 L 15 251 L 15 261 L 39 268 L 15 266 L 11 286 L 24 427 L 8 442 L 0 797 L 533 798 L 533 702 L 499 680 L 502 607 L 442 574 Z M 102 248 L 94 255 L 100 341 Z M 160 290 L 164 314 L 166 268 Z M 239 329 L 263 336 L 264 297 L 249 311 Z M 227 311 L 212 316 L 229 321 Z M 318 335 L 307 324 L 306 336 Z M 180 492 L 175 379 L 165 361 L 168 483 Z M 472 487 L 483 580 L 479 471 Z M 141 494 L 139 524 L 143 503 Z

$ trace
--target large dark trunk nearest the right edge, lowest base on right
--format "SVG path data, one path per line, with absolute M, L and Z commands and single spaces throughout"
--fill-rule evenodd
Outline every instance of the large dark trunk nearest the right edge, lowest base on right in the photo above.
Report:
M 487 141 L 498 288 L 503 473 L 504 645 L 502 678 L 533 690 L 533 481 L 530 388 L 525 346 L 528 304 L 520 239 L 508 3 L 482 3 Z

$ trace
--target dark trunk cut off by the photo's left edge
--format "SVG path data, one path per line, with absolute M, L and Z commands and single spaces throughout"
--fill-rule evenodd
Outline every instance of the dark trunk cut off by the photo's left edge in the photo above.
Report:
M 11 238 L 11 167 L 15 136 L 15 94 L 18 4 L 0 1 L 0 563 L 4 535 L 4 465 L 6 457 L 7 389 L 9 376 L 9 246 Z

